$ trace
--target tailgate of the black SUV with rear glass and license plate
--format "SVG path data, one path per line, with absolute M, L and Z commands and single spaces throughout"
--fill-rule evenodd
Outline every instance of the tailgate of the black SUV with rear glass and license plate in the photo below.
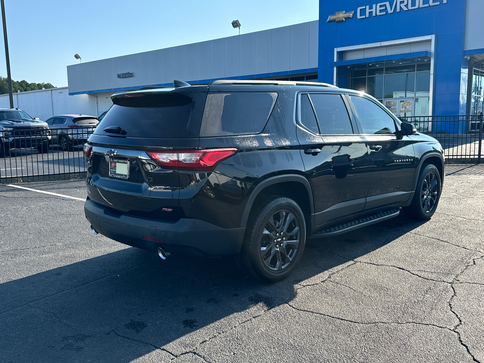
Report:
M 116 211 L 178 220 L 178 170 L 158 166 L 146 151 L 197 148 L 205 99 L 206 92 L 113 96 L 114 105 L 88 140 L 89 197 Z

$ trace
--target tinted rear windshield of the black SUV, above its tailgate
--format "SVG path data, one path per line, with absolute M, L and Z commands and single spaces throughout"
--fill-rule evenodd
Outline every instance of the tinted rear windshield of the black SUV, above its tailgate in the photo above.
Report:
M 131 93 L 113 98 L 114 105 L 99 122 L 94 134 L 118 126 L 127 137 L 182 137 L 193 99 L 181 93 Z

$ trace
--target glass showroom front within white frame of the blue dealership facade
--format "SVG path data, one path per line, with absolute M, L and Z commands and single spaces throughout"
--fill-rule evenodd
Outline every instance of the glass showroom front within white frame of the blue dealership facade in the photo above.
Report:
M 428 116 L 430 58 L 406 58 L 348 66 L 350 88 L 377 98 L 397 116 Z

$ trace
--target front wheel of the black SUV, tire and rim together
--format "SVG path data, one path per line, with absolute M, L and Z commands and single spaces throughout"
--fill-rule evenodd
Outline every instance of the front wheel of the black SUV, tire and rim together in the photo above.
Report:
M 439 205 L 442 184 L 437 167 L 433 164 L 423 164 L 412 203 L 404 207 L 403 212 L 412 219 L 424 221 L 434 215 Z

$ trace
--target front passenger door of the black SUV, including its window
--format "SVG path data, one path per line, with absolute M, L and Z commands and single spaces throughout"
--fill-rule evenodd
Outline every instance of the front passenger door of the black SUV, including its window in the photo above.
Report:
M 382 105 L 349 96 L 367 140 L 370 187 L 365 210 L 408 201 L 413 188 L 415 154 L 408 136 L 397 136 L 397 124 Z

